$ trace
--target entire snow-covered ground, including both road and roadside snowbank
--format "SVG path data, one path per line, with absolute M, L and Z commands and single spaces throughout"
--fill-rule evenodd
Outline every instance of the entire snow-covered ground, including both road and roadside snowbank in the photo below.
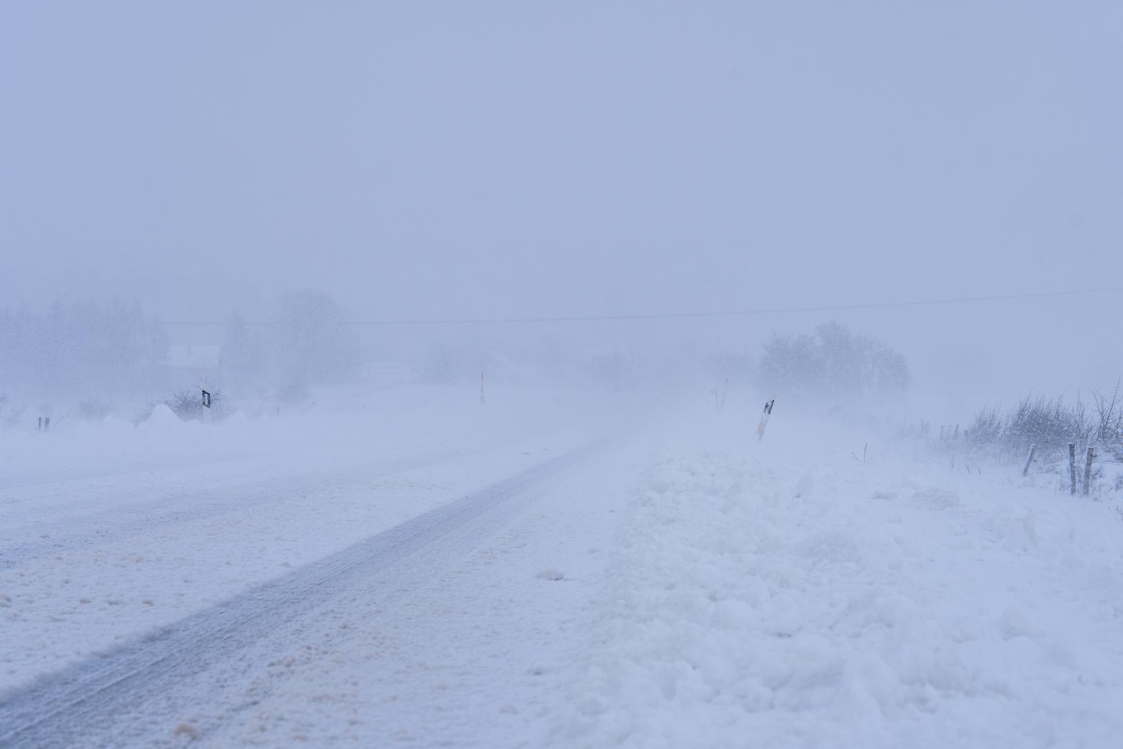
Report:
M 0 745 L 1121 746 L 1110 503 L 651 413 L 3 433 Z

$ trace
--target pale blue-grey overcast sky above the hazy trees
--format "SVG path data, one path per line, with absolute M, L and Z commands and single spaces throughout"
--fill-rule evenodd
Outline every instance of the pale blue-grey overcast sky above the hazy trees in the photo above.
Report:
M 1106 1 L 7 2 L 0 302 L 221 319 L 316 286 L 367 318 L 522 317 L 1120 285 L 1120 38 Z M 836 317 L 1016 389 L 1123 366 L 1121 312 Z

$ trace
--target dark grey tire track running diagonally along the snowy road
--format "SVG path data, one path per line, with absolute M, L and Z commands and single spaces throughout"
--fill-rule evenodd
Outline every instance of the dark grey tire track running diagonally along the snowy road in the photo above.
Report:
M 393 604 L 466 557 L 533 501 L 532 490 L 593 450 L 578 448 L 372 536 L 223 604 L 99 658 L 0 696 L 0 746 L 102 747 L 171 742 L 198 703 L 247 674 L 262 650 L 314 630 L 318 612 L 359 596 Z M 275 649 L 275 648 L 274 648 Z M 261 693 L 261 689 L 258 689 Z M 227 714 L 255 701 L 228 705 Z M 218 718 L 194 728 L 209 733 Z

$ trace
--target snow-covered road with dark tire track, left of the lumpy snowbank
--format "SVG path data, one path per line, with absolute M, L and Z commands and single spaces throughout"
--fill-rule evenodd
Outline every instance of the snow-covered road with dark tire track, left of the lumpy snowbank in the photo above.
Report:
M 624 514 L 619 430 L 410 395 L 7 435 L 0 746 L 537 743 Z

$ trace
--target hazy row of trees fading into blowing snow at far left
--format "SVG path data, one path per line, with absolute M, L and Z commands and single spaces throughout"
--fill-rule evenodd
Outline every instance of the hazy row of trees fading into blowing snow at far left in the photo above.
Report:
M 176 368 L 166 328 L 139 303 L 0 307 L 0 398 L 9 411 L 17 403 L 64 399 L 92 419 L 121 399 L 183 401 L 185 392 L 198 395 L 203 381 L 227 395 L 300 400 L 316 385 L 358 374 L 362 351 L 346 321 L 327 294 L 283 294 L 255 321 L 263 325 L 231 316 L 219 334 L 217 366 L 203 371 Z

